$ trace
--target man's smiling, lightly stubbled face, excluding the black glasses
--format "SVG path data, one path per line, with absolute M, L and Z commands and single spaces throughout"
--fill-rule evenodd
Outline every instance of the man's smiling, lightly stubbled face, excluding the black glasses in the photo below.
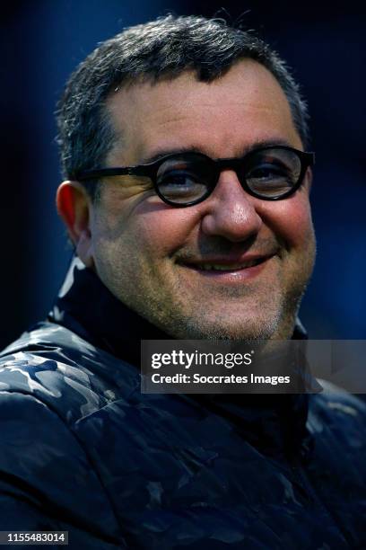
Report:
M 190 72 L 132 84 L 108 110 L 118 140 L 106 166 L 189 149 L 229 158 L 257 144 L 302 148 L 280 85 L 251 60 L 211 84 Z M 187 208 L 162 202 L 147 178 L 106 179 L 90 222 L 95 269 L 121 302 L 176 338 L 289 338 L 314 261 L 309 179 L 272 202 L 223 171 L 212 195 Z M 252 259 L 260 265 L 248 267 Z

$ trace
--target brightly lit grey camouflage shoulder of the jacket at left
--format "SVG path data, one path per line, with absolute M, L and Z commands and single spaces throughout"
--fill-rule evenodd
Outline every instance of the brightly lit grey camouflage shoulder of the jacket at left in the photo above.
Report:
M 32 396 L 70 426 L 138 381 L 137 369 L 57 324 L 40 324 L 0 354 L 0 399 Z

